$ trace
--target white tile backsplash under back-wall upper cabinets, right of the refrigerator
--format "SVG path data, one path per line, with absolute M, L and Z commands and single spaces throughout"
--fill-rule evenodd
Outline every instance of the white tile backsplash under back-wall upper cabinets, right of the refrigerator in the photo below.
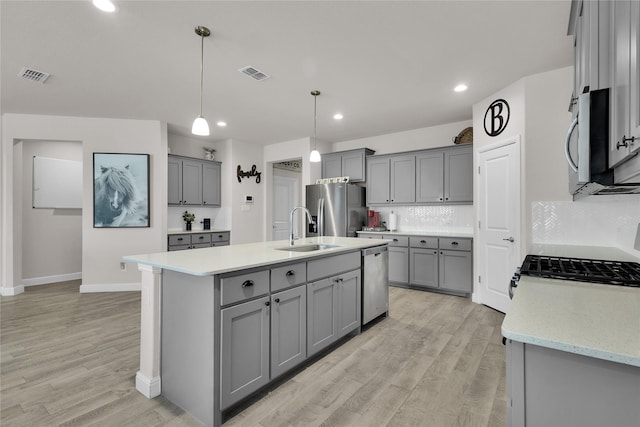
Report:
M 380 221 L 389 222 L 393 211 L 398 217 L 399 231 L 421 231 L 434 227 L 472 227 L 472 205 L 372 207 L 380 212 Z

